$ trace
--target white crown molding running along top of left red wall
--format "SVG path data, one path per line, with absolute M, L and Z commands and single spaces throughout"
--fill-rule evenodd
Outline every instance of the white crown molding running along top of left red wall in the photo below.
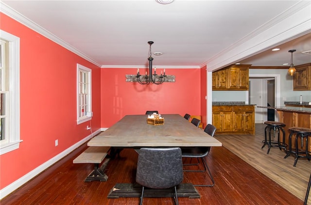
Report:
M 6 5 L 5 3 L 1 2 L 1 1 L 0 1 L 0 12 L 11 17 L 11 18 L 13 18 L 14 20 L 18 21 L 19 23 L 27 26 L 28 28 L 34 30 L 35 32 L 40 33 L 41 35 L 47 37 L 48 39 L 59 44 L 60 46 L 65 47 L 66 49 L 70 50 L 71 52 L 73 52 L 73 53 L 77 54 L 78 56 L 84 58 L 86 61 L 89 61 L 90 63 L 93 63 L 93 64 L 101 67 L 101 64 L 96 62 L 94 59 L 88 57 L 86 54 L 84 54 L 81 51 L 79 51 L 78 49 L 72 47 L 71 45 L 69 45 L 68 43 L 66 43 L 65 41 L 63 41 L 59 37 L 57 37 L 56 35 L 45 30 L 44 28 L 42 28 L 41 26 L 39 26 L 35 22 L 33 22 L 30 19 L 26 18 L 25 16 L 21 15 L 16 10 L 12 9 L 11 7 L 9 7 L 8 5 Z

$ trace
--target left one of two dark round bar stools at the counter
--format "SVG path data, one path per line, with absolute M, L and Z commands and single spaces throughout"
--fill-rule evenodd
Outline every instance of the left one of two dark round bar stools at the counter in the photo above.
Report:
M 286 151 L 286 146 L 285 144 L 285 131 L 283 127 L 286 125 L 284 123 L 276 122 L 276 121 L 266 121 L 264 122 L 267 126 L 264 128 L 264 140 L 262 141 L 263 145 L 261 149 L 265 146 L 268 145 L 268 151 L 267 155 L 270 152 L 271 147 L 278 147 L 280 150 L 283 148 Z M 267 139 L 267 131 L 269 130 L 269 139 Z M 271 130 L 273 130 L 273 138 L 276 137 L 276 130 L 277 130 L 277 141 L 276 140 L 271 140 Z M 282 132 L 282 142 L 280 142 L 280 132 Z

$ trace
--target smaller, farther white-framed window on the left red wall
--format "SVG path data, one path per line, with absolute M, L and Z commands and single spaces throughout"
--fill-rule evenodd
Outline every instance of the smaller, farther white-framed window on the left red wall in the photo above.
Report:
M 92 119 L 91 75 L 91 69 L 77 64 L 77 124 Z

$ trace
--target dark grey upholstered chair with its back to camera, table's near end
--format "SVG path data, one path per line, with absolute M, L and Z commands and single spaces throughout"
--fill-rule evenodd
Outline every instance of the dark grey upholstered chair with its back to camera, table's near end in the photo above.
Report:
M 140 205 L 144 190 L 173 188 L 174 202 L 178 205 L 177 189 L 184 178 L 181 149 L 179 147 L 146 147 L 138 153 L 136 182 L 142 186 Z

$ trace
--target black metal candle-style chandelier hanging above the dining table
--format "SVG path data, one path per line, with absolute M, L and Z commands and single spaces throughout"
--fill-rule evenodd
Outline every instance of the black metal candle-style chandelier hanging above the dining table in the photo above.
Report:
M 154 58 L 151 56 L 152 53 L 151 53 L 151 45 L 153 44 L 154 42 L 153 41 L 148 41 L 148 44 L 149 44 L 149 58 L 148 58 L 148 61 L 149 61 L 149 75 L 148 75 L 148 72 L 146 71 L 145 75 L 140 75 L 139 74 L 139 68 L 137 69 L 137 75 L 135 76 L 137 78 L 137 81 L 139 84 L 142 84 L 142 85 L 148 85 L 151 83 L 154 83 L 156 85 L 159 85 L 159 84 L 162 84 L 164 81 L 165 81 L 165 69 L 163 71 L 163 75 L 162 75 L 162 71 L 161 71 L 161 75 L 157 75 L 156 74 L 156 68 L 154 70 L 154 74 L 152 74 L 152 61 L 154 60 Z M 142 78 L 140 78 L 142 76 Z

